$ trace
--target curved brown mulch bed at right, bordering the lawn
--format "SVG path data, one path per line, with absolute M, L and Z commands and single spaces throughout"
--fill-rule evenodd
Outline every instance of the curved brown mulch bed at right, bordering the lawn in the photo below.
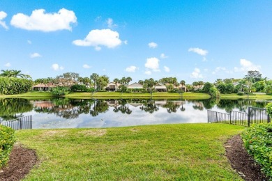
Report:
M 240 135 L 236 135 L 229 139 L 225 144 L 227 158 L 232 165 L 232 168 L 244 180 L 269 180 L 261 173 L 261 167 L 254 162 L 254 159 L 248 155 L 248 152 L 243 147 L 243 141 Z

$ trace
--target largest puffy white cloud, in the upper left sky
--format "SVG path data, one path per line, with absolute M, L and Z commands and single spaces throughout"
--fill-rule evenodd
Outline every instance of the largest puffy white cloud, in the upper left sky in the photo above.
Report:
M 63 29 L 71 31 L 70 24 L 76 22 L 73 10 L 62 8 L 58 13 L 45 13 L 44 9 L 33 10 L 30 16 L 18 13 L 13 15 L 10 24 L 20 29 L 49 32 Z

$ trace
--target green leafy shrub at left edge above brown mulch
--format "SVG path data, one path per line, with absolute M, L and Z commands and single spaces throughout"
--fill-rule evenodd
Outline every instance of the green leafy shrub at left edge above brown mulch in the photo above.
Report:
M 10 151 L 15 143 L 14 133 L 12 128 L 0 125 L 0 168 L 8 163 Z

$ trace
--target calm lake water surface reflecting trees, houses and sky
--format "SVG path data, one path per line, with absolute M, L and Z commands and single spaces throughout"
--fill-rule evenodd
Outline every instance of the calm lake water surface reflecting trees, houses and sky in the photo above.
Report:
M 265 107 L 269 100 L 0 100 L 0 120 L 32 115 L 33 129 L 126 127 L 207 123 L 207 109 L 220 112 Z

